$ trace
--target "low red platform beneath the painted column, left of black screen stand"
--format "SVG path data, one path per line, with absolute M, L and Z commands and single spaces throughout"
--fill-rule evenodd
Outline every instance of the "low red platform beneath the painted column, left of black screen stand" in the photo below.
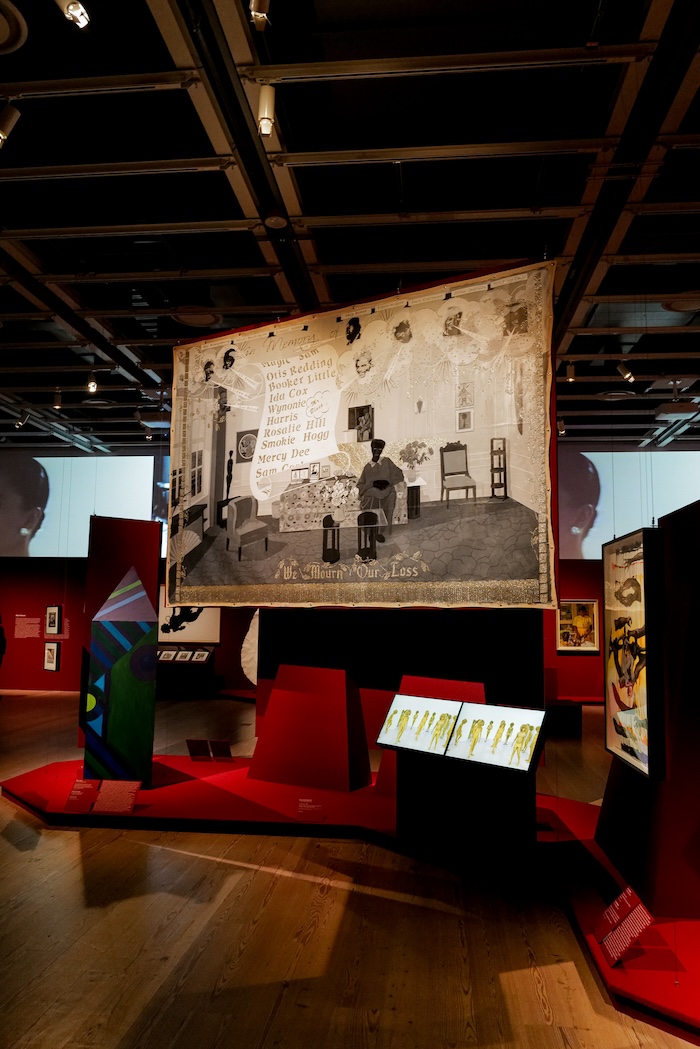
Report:
M 391 755 L 394 756 L 394 755 Z M 372 783 L 355 791 L 272 784 L 249 777 L 250 761 L 199 762 L 190 757 L 153 758 L 153 787 L 136 794 L 127 816 L 92 816 L 66 811 L 68 796 L 83 775 L 83 762 L 56 762 L 6 779 L 5 797 L 57 827 L 155 826 L 173 829 L 232 830 L 236 825 L 296 825 L 362 829 L 393 834 L 396 791 Z M 380 768 L 381 773 L 381 768 Z

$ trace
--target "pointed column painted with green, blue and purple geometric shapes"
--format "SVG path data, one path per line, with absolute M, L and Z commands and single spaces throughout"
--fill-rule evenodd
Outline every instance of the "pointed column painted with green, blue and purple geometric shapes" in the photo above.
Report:
M 156 613 L 130 569 L 92 620 L 80 711 L 85 779 L 140 779 L 150 787 L 156 642 Z

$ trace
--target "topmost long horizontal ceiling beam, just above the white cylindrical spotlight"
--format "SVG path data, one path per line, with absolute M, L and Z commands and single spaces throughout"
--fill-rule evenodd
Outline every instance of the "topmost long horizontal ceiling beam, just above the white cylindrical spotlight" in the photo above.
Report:
M 309 84 L 337 80 L 373 80 L 386 77 L 425 77 L 462 72 L 500 72 L 563 69 L 641 62 L 654 53 L 655 44 L 643 42 L 611 46 L 563 47 L 551 50 L 494 51 L 474 55 L 432 55 L 399 59 L 352 59 L 343 62 L 297 62 L 241 65 L 242 80 L 258 84 Z

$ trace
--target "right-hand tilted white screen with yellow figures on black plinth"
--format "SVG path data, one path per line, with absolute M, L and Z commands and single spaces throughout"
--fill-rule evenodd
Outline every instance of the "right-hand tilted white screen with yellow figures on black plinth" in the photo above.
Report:
M 539 753 L 544 710 L 463 703 L 448 757 L 528 772 Z

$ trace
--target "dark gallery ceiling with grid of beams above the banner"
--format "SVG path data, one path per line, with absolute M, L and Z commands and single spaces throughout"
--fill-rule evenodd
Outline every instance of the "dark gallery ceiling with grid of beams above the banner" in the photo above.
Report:
M 700 447 L 698 0 L 248 2 L 0 0 L 5 447 L 141 450 L 178 343 L 542 259 L 559 440 Z

